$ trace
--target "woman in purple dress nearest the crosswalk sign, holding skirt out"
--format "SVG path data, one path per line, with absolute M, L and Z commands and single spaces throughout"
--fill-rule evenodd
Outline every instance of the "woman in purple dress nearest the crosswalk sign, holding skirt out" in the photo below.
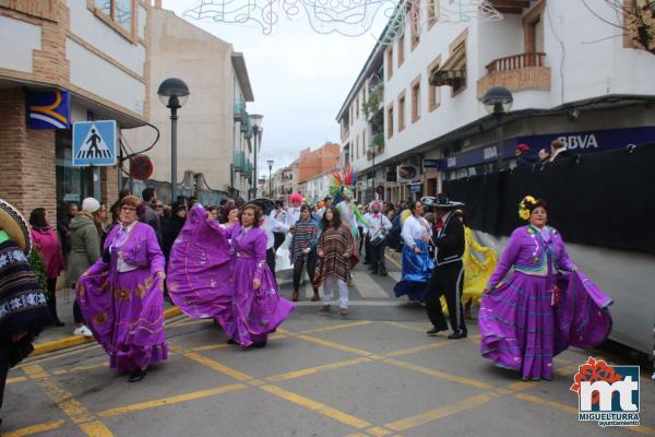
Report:
M 78 281 L 78 299 L 109 365 L 130 371 L 130 382 L 152 363 L 168 357 L 164 332 L 163 284 L 166 262 L 154 229 L 139 222 L 141 200 L 120 202 L 120 226 L 105 241 L 100 259 Z

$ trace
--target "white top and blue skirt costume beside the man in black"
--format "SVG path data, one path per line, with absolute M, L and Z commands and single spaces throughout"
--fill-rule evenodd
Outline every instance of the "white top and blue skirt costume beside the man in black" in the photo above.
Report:
M 428 247 L 431 235 L 430 224 L 424 217 L 409 215 L 405 220 L 401 232 L 404 243 L 403 277 L 393 288 L 396 297 L 407 295 L 410 302 L 426 302 L 426 287 L 434 269 Z M 420 253 L 416 253 L 414 248 L 420 249 Z

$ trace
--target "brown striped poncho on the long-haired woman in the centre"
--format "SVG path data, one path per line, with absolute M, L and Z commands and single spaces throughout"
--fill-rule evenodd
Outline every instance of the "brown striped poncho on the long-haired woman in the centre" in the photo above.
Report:
M 319 258 L 315 285 L 320 285 L 327 276 L 336 276 L 342 281 L 350 279 L 350 259 L 344 258 L 345 253 L 355 252 L 355 239 L 346 225 L 337 229 L 326 227 L 323 229 L 318 245 L 319 253 L 323 251 L 324 257 Z

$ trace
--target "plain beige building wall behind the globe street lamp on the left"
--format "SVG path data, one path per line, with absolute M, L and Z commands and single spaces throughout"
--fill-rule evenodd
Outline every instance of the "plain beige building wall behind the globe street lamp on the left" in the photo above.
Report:
M 249 199 L 254 151 L 246 109 L 254 97 L 243 55 L 171 11 L 152 8 L 152 21 L 148 94 L 154 102 L 151 122 L 160 138 L 147 152 L 154 164 L 151 179 L 170 182 L 170 110 L 159 102 L 157 90 L 167 78 L 178 78 L 190 91 L 178 109 L 180 191 L 199 196 L 205 204 L 217 204 L 228 196 Z M 152 138 L 152 129 L 142 128 L 131 132 L 128 141 L 143 149 Z M 165 184 L 160 187 L 159 196 L 168 200 L 169 190 Z

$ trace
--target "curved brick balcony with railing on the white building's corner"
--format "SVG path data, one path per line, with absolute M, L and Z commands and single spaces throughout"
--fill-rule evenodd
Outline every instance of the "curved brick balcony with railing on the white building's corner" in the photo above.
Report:
M 520 54 L 495 59 L 486 67 L 487 75 L 477 82 L 477 96 L 483 98 L 492 86 L 504 86 L 511 92 L 550 90 L 550 68 L 546 54 Z

